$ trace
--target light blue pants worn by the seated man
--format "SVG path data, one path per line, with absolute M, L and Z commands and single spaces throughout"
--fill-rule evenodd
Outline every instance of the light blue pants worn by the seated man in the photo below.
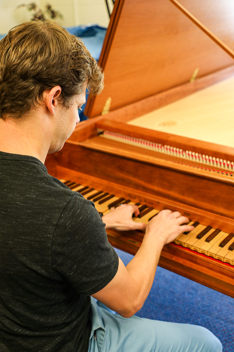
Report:
M 89 352 L 222 352 L 218 338 L 201 326 L 123 318 L 101 307 L 91 297 Z

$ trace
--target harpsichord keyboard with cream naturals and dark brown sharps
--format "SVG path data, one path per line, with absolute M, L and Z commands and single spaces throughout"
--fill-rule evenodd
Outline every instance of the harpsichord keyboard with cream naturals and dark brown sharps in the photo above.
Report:
M 85 199 L 92 200 L 101 216 L 107 214 L 112 207 L 126 203 L 135 204 L 139 207 L 140 214 L 138 217 L 134 217 L 133 220 L 147 223 L 160 211 L 145 204 L 135 203 L 129 199 L 117 197 L 114 194 L 109 194 L 93 187 L 64 179 L 60 181 L 71 190 L 79 192 Z M 227 233 L 220 228 L 213 228 L 210 225 L 202 225 L 196 220 L 190 221 L 188 225 L 193 225 L 194 229 L 190 232 L 180 234 L 174 240 L 175 244 L 234 265 L 234 233 Z

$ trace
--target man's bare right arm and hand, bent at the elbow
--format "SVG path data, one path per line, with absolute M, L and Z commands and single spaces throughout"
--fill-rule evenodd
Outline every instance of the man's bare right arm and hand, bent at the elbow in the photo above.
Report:
M 124 317 L 135 314 L 152 287 L 163 245 L 173 241 L 180 233 L 191 231 L 193 226 L 180 226 L 188 221 L 179 212 L 162 210 L 149 221 L 135 257 L 126 267 L 119 259 L 115 277 L 93 297 Z

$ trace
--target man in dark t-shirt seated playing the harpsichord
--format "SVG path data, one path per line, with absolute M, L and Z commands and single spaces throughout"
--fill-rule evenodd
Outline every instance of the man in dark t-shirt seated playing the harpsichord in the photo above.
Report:
M 1 351 L 220 352 L 205 328 L 133 316 L 163 245 L 193 229 L 181 225 L 188 219 L 163 210 L 136 224 L 131 205 L 101 219 L 92 202 L 47 173 L 46 155 L 79 122 L 86 87 L 98 94 L 102 86 L 82 42 L 53 21 L 23 23 L 0 42 Z M 126 267 L 105 227 L 146 230 Z

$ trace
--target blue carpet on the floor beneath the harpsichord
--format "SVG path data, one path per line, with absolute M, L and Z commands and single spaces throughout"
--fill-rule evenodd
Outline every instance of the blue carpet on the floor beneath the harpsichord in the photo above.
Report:
M 131 254 L 115 249 L 123 263 Z M 157 268 L 141 318 L 201 325 L 222 342 L 223 352 L 234 352 L 234 299 L 171 271 Z

